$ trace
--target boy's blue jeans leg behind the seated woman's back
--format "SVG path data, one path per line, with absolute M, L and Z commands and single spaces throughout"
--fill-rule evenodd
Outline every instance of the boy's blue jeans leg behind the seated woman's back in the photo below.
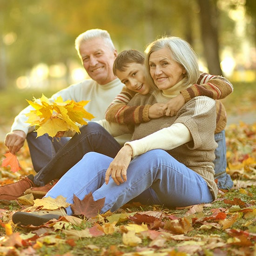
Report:
M 226 159 L 226 139 L 225 130 L 217 133 L 215 141 L 218 143 L 218 147 L 215 150 L 214 171 L 215 179 L 217 179 L 217 186 L 219 189 L 231 189 L 233 187 L 233 181 L 229 174 L 227 174 L 227 159 Z

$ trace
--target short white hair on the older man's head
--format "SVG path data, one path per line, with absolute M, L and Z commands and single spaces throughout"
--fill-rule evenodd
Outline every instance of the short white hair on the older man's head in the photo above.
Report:
M 94 39 L 94 38 L 102 38 L 105 43 L 111 48 L 111 50 L 115 50 L 115 46 L 113 41 L 111 40 L 111 37 L 108 33 L 107 30 L 102 30 L 99 28 L 94 28 L 94 29 L 89 29 L 85 31 L 84 33 L 80 34 L 76 39 L 75 39 L 75 49 L 77 50 L 77 53 L 79 57 L 81 58 L 79 48 L 81 44 L 84 42 L 87 42 L 88 40 Z

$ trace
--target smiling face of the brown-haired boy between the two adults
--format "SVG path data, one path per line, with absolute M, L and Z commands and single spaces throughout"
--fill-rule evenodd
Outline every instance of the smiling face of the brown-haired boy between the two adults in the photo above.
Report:
M 145 66 L 140 63 L 130 63 L 125 71 L 116 70 L 116 76 L 130 90 L 146 95 L 150 88 L 146 83 Z

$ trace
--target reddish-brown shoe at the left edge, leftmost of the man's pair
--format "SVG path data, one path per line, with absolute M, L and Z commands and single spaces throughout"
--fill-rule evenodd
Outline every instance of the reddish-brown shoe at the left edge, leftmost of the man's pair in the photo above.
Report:
M 0 200 L 15 200 L 21 195 L 24 195 L 24 192 L 27 189 L 34 186 L 34 182 L 27 176 L 20 176 L 20 180 L 18 182 L 0 187 Z

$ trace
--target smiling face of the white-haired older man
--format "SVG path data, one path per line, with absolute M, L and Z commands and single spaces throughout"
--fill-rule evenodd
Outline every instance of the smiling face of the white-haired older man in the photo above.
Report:
M 113 63 L 117 56 L 101 38 L 94 38 L 81 44 L 79 48 L 81 60 L 88 75 L 101 85 L 113 81 Z

